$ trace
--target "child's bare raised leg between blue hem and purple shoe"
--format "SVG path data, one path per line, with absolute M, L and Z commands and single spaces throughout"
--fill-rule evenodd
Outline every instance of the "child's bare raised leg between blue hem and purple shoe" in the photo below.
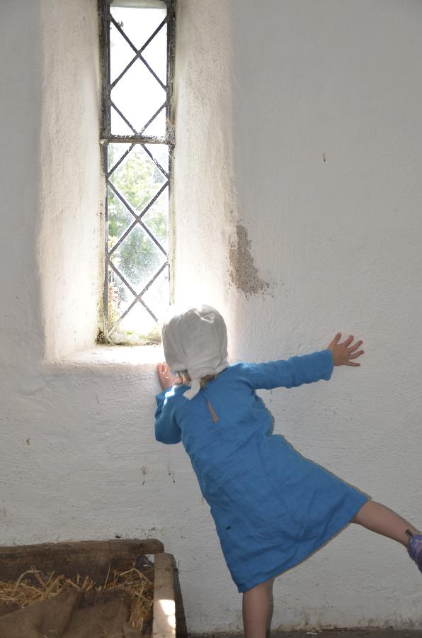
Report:
M 404 547 L 407 547 L 409 541 L 406 530 L 410 530 L 412 534 L 421 533 L 393 510 L 389 510 L 385 505 L 375 503 L 373 500 L 367 500 L 350 522 L 358 523 L 358 525 L 366 527 L 367 530 L 397 540 Z

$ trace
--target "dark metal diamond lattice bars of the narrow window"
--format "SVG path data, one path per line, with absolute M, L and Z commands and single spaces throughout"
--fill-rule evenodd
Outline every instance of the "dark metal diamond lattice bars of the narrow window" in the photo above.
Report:
M 175 48 L 175 14 L 176 14 L 176 0 L 163 0 L 166 5 L 166 17 L 163 21 L 155 28 L 153 33 L 149 35 L 147 40 L 142 44 L 140 48 L 137 48 L 132 40 L 125 33 L 125 28 L 118 23 L 118 21 L 113 18 L 110 13 L 110 7 L 113 7 L 113 0 L 98 0 L 98 13 L 100 18 L 100 45 L 101 45 L 101 70 L 102 70 L 102 101 L 101 101 L 101 145 L 103 146 L 103 171 L 105 175 L 105 185 L 106 190 L 111 189 L 115 196 L 118 197 L 119 201 L 125 206 L 125 210 L 127 210 L 133 217 L 132 223 L 126 228 L 125 232 L 118 238 L 115 244 L 112 247 L 108 247 L 108 194 L 105 195 L 105 269 L 104 269 L 104 292 L 103 292 L 103 330 L 99 332 L 98 341 L 100 342 L 108 342 L 115 343 L 113 340 L 113 330 L 115 330 L 116 326 L 120 324 L 120 322 L 125 318 L 127 313 L 130 313 L 130 310 L 136 306 L 137 303 L 140 303 L 141 306 L 147 310 L 147 313 L 157 322 L 156 314 L 154 313 L 154 308 L 150 308 L 149 305 L 144 301 L 144 294 L 150 289 L 150 287 L 154 284 L 157 277 L 167 269 L 169 272 L 169 288 L 171 289 L 171 280 L 172 273 L 170 269 L 169 263 L 169 251 L 166 250 L 159 241 L 158 237 L 155 237 L 154 233 L 144 224 L 142 218 L 146 215 L 147 211 L 154 205 L 159 196 L 168 189 L 169 194 L 169 228 L 171 228 L 171 219 L 172 219 L 172 210 L 171 210 L 171 186 L 172 186 L 172 169 L 173 169 L 173 148 L 174 148 L 174 105 L 173 105 L 173 76 L 174 76 L 174 48 Z M 154 0 L 147 3 L 142 3 L 141 1 L 127 0 L 127 2 L 122 2 L 121 0 L 116 2 L 119 6 L 142 6 L 142 4 L 149 4 L 152 6 L 154 4 Z M 141 11 L 142 9 L 139 9 Z M 156 35 L 164 28 L 166 24 L 167 27 L 167 42 L 166 42 L 166 84 L 164 84 L 159 76 L 154 72 L 152 66 L 145 60 L 142 52 L 147 48 L 149 43 L 154 40 Z M 120 33 L 122 38 L 126 41 L 127 45 L 132 49 L 133 57 L 130 62 L 127 63 L 124 69 L 118 74 L 118 77 L 113 79 L 111 82 L 110 79 L 110 27 L 113 25 L 115 30 Z M 111 98 L 111 91 L 113 88 L 118 85 L 118 82 L 125 77 L 125 74 L 132 68 L 132 66 L 139 60 L 142 62 L 144 67 L 149 71 L 149 73 L 154 77 L 155 81 L 161 86 L 162 89 L 166 92 L 166 99 L 164 103 L 159 106 L 159 108 L 154 112 L 154 114 L 149 118 L 149 120 L 144 123 L 141 130 L 136 130 L 136 128 L 130 123 L 130 120 L 126 118 L 125 114 L 122 113 L 120 108 L 116 106 Z M 165 127 L 165 135 L 156 136 L 156 135 L 145 135 L 145 130 L 147 130 L 148 126 L 154 122 L 154 119 L 159 116 L 161 111 L 165 108 L 166 111 L 166 127 Z M 112 125 L 111 125 L 111 114 L 112 109 L 118 116 L 122 119 L 122 121 L 127 125 L 127 127 L 132 131 L 131 135 L 116 135 L 112 133 Z M 127 150 L 123 150 L 121 157 L 118 157 L 118 161 L 114 163 L 112 167 L 108 167 L 108 157 L 109 157 L 109 145 L 130 145 Z M 151 150 L 147 145 L 167 145 L 169 149 L 169 169 L 164 169 L 158 159 L 154 157 Z M 161 184 L 159 190 L 154 194 L 152 198 L 149 199 L 147 204 L 142 207 L 142 211 L 137 212 L 133 210 L 133 207 L 130 205 L 130 202 L 116 189 L 113 184 L 113 174 L 118 169 L 118 167 L 125 160 L 127 155 L 132 152 L 136 147 L 141 147 L 142 150 L 149 156 L 149 158 L 154 163 L 156 169 L 164 177 L 165 181 Z M 131 286 L 130 281 L 127 281 L 127 278 L 120 272 L 115 263 L 111 260 L 115 251 L 118 250 L 118 247 L 124 242 L 125 238 L 130 235 L 130 232 L 134 228 L 142 228 L 144 233 L 149 237 L 154 245 L 164 254 L 165 262 L 161 264 L 161 266 L 149 276 L 147 283 L 142 286 L 141 291 L 136 291 L 133 286 Z M 169 233 L 171 234 L 171 233 Z M 130 291 L 133 295 L 132 303 L 125 308 L 125 310 L 114 320 L 109 316 L 109 269 L 113 271 L 115 276 L 117 276 L 123 284 L 127 287 L 127 290 Z M 169 300 L 170 301 L 170 290 L 169 290 Z

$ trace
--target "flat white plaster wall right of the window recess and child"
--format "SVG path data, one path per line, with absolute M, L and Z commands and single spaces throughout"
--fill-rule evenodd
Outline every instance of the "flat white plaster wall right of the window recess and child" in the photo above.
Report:
M 240 296 L 235 355 L 363 338 L 360 369 L 268 397 L 276 430 L 421 525 L 422 5 L 230 4 L 239 211 L 272 284 Z M 278 579 L 274 627 L 422 627 L 418 571 L 352 527 Z

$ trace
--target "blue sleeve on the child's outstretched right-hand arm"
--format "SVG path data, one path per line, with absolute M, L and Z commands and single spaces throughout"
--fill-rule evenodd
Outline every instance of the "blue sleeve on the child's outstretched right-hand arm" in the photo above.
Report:
M 333 355 L 330 350 L 321 350 L 287 360 L 246 364 L 247 380 L 254 390 L 295 388 L 321 379 L 329 381 L 332 372 Z

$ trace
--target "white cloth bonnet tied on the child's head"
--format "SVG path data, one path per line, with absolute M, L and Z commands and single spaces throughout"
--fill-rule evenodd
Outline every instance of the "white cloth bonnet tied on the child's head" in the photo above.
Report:
M 161 326 L 164 357 L 171 372 L 186 370 L 192 399 L 200 391 L 200 379 L 227 368 L 227 329 L 222 315 L 212 306 L 176 312 Z

